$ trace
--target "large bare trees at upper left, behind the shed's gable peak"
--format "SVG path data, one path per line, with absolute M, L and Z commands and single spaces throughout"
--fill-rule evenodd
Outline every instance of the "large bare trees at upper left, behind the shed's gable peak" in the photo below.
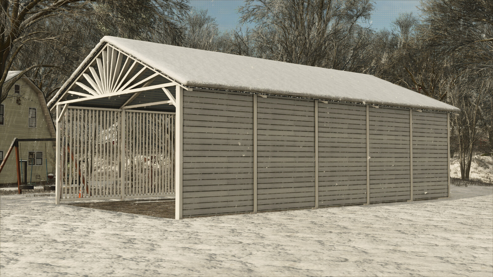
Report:
M 0 103 L 28 73 L 46 97 L 103 35 L 181 43 L 185 0 L 0 0 Z M 5 84 L 6 74 L 22 74 Z

